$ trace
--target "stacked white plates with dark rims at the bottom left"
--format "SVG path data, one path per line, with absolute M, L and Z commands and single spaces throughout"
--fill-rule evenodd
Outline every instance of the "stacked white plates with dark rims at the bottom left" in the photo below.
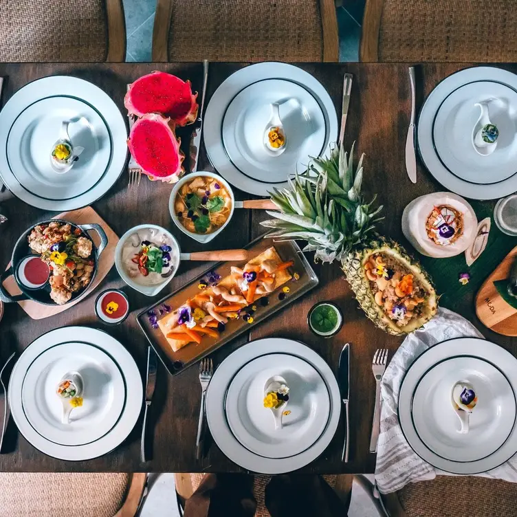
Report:
M 83 406 L 61 423 L 56 388 L 65 373 L 85 382 Z M 9 382 L 12 417 L 35 448 L 58 459 L 96 458 L 120 445 L 142 409 L 142 380 L 128 351 L 107 333 L 63 327 L 30 344 Z

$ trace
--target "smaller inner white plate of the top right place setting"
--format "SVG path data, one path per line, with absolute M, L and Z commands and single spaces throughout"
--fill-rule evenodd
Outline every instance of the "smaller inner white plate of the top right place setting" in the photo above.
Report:
M 481 156 L 472 133 L 487 102 L 490 122 L 499 130 L 496 151 Z M 475 184 L 494 184 L 517 173 L 517 91 L 485 81 L 470 83 L 443 101 L 434 120 L 434 146 L 441 161 L 457 177 Z

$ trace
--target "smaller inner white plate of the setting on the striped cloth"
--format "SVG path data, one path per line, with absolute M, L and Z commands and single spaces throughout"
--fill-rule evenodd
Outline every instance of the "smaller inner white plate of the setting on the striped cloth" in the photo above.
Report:
M 452 408 L 452 386 L 472 385 L 478 397 L 462 434 Z M 452 461 L 477 461 L 493 454 L 514 428 L 516 401 L 507 378 L 493 364 L 463 355 L 434 365 L 419 381 L 412 398 L 417 433 L 432 452 Z

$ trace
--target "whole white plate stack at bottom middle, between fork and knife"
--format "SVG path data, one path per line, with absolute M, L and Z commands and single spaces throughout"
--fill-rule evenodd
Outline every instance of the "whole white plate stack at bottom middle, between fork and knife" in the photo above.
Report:
M 263 407 L 265 383 L 289 386 L 283 428 Z M 229 459 L 263 474 L 291 472 L 329 445 L 340 418 L 340 391 L 327 363 L 305 344 L 267 338 L 246 344 L 215 371 L 206 395 L 212 437 Z

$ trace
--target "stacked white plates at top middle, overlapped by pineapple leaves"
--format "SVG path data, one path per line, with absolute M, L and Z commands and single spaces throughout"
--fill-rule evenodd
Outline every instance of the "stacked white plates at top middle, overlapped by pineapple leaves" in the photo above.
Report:
M 271 105 L 280 105 L 287 144 L 265 147 Z M 285 63 L 259 63 L 227 78 L 210 99 L 203 138 L 210 162 L 232 185 L 267 196 L 307 168 L 309 157 L 327 152 L 338 137 L 333 102 L 321 83 Z

